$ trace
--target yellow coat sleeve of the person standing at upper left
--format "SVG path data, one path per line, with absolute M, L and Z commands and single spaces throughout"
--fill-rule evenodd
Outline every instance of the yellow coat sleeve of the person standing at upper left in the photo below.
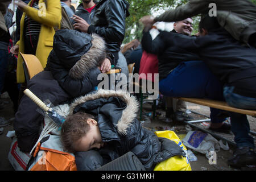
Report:
M 48 27 L 60 26 L 61 6 L 60 0 L 47 0 L 46 3 L 39 1 L 39 10 L 26 6 L 24 12 L 36 22 Z

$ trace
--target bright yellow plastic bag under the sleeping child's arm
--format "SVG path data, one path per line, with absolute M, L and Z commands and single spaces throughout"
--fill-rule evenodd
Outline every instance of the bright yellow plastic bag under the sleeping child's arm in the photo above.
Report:
M 168 138 L 177 143 L 187 154 L 187 148 L 180 141 L 174 131 L 155 131 L 156 136 Z M 154 171 L 192 171 L 188 156 L 185 158 L 180 155 L 173 156 L 163 162 L 156 164 Z

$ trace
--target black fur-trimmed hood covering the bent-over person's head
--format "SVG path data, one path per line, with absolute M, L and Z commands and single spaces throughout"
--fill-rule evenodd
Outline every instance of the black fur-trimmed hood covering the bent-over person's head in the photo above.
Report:
M 81 78 L 100 65 L 106 57 L 105 41 L 97 34 L 59 30 L 53 39 L 53 51 L 72 78 Z

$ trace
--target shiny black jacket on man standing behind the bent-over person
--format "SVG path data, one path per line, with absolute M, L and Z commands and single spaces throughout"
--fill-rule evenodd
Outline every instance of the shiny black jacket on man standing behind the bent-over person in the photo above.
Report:
M 88 33 L 96 33 L 106 41 L 110 52 L 118 52 L 125 37 L 125 18 L 129 16 L 129 3 L 125 0 L 101 0 Z

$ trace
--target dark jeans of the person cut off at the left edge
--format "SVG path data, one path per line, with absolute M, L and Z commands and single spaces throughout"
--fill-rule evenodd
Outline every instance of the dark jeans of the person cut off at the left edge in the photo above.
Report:
M 8 66 L 8 51 L 0 49 L 0 94 L 5 86 L 5 74 Z

